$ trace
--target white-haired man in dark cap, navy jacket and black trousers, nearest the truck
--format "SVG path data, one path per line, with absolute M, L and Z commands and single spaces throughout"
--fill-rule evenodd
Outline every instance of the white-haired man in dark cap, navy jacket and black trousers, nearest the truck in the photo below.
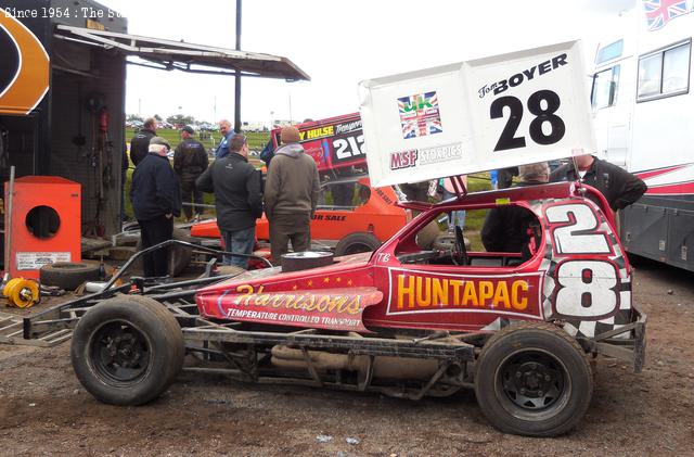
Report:
M 130 200 L 134 217 L 140 224 L 142 249 L 170 240 L 174 236 L 174 217 L 181 214 L 178 177 L 166 156 L 169 148 L 164 138 L 152 138 L 150 152 L 132 174 Z M 168 249 L 145 255 L 144 276 L 166 276 L 168 256 Z

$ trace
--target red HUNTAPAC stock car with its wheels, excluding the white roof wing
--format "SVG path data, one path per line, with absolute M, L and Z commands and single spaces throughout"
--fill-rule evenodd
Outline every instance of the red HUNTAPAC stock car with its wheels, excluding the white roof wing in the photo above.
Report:
M 415 399 L 472 388 L 500 430 L 560 434 L 588 409 L 591 356 L 637 371 L 644 361 L 645 316 L 632 305 L 612 214 L 582 192 L 596 191 L 556 183 L 410 203 L 422 214 L 373 254 L 223 281 L 136 278 L 27 318 L 25 338 L 72 327 L 95 304 L 75 328 L 73 364 L 85 388 L 111 404 L 157 397 L 189 352 L 248 381 Z M 454 246 L 439 251 L 422 236 L 442 213 L 498 205 L 534 215 L 528 249 L 466 252 L 457 230 Z

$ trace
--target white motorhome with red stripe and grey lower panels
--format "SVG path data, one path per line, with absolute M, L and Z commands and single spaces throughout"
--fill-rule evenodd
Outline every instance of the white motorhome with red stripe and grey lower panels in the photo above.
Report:
M 591 90 L 597 150 L 648 185 L 621 217 L 631 253 L 694 270 L 694 11 L 648 30 L 624 14 L 595 54 Z

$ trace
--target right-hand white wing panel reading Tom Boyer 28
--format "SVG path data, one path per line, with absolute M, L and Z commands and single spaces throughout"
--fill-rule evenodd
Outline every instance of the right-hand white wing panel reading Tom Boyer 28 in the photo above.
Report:
M 484 132 L 480 152 L 529 154 L 525 161 L 529 163 L 591 149 L 586 73 L 578 45 L 507 54 L 505 62 L 470 63 L 470 90 L 476 96 L 470 101 L 476 105 L 477 122 L 484 123 L 475 129 Z M 534 154 L 537 161 L 531 160 Z

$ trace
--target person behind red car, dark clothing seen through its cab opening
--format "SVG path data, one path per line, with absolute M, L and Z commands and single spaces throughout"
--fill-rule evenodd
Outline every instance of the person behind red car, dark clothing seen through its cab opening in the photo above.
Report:
M 518 175 L 520 182 L 516 187 L 543 185 L 549 179 L 550 168 L 547 162 L 522 165 Z M 538 234 L 532 227 L 537 220 L 532 212 L 523 206 L 509 204 L 493 207 L 487 213 L 481 228 L 481 242 L 487 252 L 519 252 L 524 259 L 530 258 L 529 243 L 532 242 L 532 236 Z

